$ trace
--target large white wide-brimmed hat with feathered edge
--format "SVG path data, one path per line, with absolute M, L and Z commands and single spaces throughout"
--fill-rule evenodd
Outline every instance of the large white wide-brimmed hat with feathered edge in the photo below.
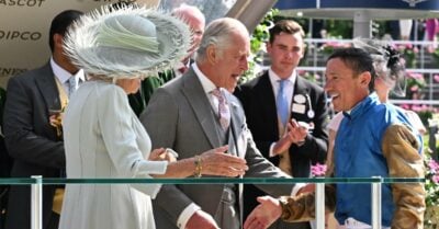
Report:
M 173 67 L 190 43 L 189 26 L 170 13 L 104 5 L 74 24 L 65 51 L 88 75 L 137 78 Z

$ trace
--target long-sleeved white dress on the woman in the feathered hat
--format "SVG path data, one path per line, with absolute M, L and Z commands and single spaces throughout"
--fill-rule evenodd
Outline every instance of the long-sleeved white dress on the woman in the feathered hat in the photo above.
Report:
M 162 174 L 167 162 L 146 161 L 149 136 L 122 88 L 83 83 L 64 121 L 67 178 L 121 179 Z M 159 184 L 68 184 L 59 229 L 155 229 L 150 197 Z

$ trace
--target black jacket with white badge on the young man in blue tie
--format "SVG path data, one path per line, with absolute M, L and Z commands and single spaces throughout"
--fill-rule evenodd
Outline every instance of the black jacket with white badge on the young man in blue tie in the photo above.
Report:
M 293 98 L 296 94 L 308 94 L 312 107 L 308 106 L 306 101 L 306 110 L 303 114 L 292 113 L 291 117 L 297 122 L 314 123 L 314 131 L 308 134 L 305 144 L 301 147 L 293 145 L 289 152 L 291 159 L 291 167 L 294 178 L 308 178 L 309 165 L 316 162 L 324 163 L 326 160 L 328 134 L 326 125 L 328 121 L 328 106 L 326 104 L 326 95 L 324 90 L 297 77 L 294 85 Z M 272 163 L 279 164 L 279 157 L 269 157 L 271 144 L 279 140 L 279 126 L 278 113 L 275 108 L 275 98 L 273 89 L 268 76 L 268 71 L 263 72 L 256 79 L 239 85 L 235 95 L 241 101 L 243 107 L 246 113 L 248 128 L 254 135 L 256 146 L 261 151 L 263 157 L 268 158 Z M 294 103 L 294 100 L 292 100 Z M 311 118 L 307 111 L 312 108 L 315 113 Z M 254 201 L 256 196 L 263 195 L 259 190 L 249 187 L 245 190 L 245 199 L 252 202 L 246 204 L 248 207 L 245 211 L 250 210 L 256 206 Z

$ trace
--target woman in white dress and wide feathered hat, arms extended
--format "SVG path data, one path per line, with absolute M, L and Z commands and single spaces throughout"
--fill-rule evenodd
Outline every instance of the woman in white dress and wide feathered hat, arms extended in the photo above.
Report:
M 166 149 L 150 153 L 150 139 L 130 107 L 126 94 L 138 90 L 140 79 L 172 67 L 189 45 L 183 22 L 142 7 L 104 7 L 79 20 L 65 47 L 89 81 L 70 99 L 63 121 L 67 178 L 245 172 L 244 159 L 223 153 L 227 147 L 179 161 Z M 154 229 L 150 197 L 159 188 L 160 184 L 67 184 L 59 228 Z

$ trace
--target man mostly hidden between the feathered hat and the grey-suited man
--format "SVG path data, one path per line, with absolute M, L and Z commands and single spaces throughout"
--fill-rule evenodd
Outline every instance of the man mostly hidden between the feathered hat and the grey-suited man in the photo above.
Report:
M 130 94 L 130 105 L 136 115 L 145 110 L 154 91 L 164 85 L 168 81 L 182 76 L 192 64 L 192 55 L 200 45 L 204 33 L 205 19 L 204 14 L 196 8 L 188 4 L 181 4 L 172 11 L 172 15 L 184 21 L 192 32 L 192 44 L 188 50 L 188 55 L 179 62 L 175 69 L 158 72 L 156 77 L 148 77 L 142 81 L 142 87 L 135 94 Z

